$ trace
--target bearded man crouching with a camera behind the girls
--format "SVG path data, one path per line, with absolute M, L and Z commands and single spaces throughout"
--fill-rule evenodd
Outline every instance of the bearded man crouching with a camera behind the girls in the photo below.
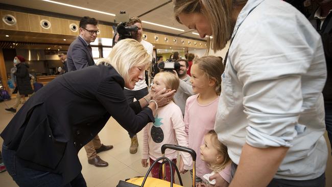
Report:
M 185 102 L 188 97 L 194 95 L 192 83 L 190 81 L 191 77 L 187 74 L 188 71 L 188 61 L 186 59 L 180 58 L 177 60 L 180 63 L 180 71 L 176 73 L 180 79 L 179 88 L 174 95 L 175 104 L 181 109 L 182 115 L 185 111 Z

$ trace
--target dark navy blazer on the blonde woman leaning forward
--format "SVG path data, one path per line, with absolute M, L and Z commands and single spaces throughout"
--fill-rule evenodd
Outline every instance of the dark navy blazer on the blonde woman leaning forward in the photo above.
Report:
M 154 122 L 150 108 L 127 103 L 124 84 L 112 66 L 104 65 L 57 77 L 16 113 L 1 133 L 4 145 L 26 167 L 62 174 L 63 183 L 70 182 L 82 170 L 79 150 L 110 116 L 132 133 Z

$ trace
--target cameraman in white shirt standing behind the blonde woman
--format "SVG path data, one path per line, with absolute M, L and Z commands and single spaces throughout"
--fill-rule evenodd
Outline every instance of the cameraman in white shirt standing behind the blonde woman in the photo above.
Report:
M 133 39 L 140 42 L 144 46 L 144 48 L 147 50 L 148 54 L 151 56 L 151 59 L 152 59 L 153 45 L 150 42 L 145 41 L 144 39 L 142 39 L 142 35 L 143 35 L 142 21 L 138 17 L 132 17 L 132 18 L 129 19 L 127 24 L 128 24 L 128 26 L 138 27 L 137 32 L 132 32 L 131 33 L 132 37 L 133 37 Z M 124 92 L 125 92 L 125 96 L 127 98 L 128 103 L 132 103 L 134 101 L 134 98 L 136 100 L 139 100 L 139 99 L 143 98 L 144 96 L 146 96 L 149 93 L 148 84 L 147 84 L 145 79 L 138 80 L 138 82 L 136 83 L 136 85 L 133 89 L 128 89 L 128 88 L 125 87 Z M 130 152 L 130 154 L 135 154 L 137 152 L 137 149 L 138 149 L 137 135 L 133 134 L 131 132 L 128 132 L 128 133 L 129 133 L 129 137 L 131 139 L 129 152 Z

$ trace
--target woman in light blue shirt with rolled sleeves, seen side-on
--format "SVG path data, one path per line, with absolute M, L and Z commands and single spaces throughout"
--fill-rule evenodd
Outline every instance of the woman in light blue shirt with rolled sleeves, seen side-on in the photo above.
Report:
M 231 41 L 215 124 L 232 160 L 229 186 L 325 186 L 326 61 L 305 16 L 274 0 L 173 4 L 178 22 L 213 37 L 214 52 Z

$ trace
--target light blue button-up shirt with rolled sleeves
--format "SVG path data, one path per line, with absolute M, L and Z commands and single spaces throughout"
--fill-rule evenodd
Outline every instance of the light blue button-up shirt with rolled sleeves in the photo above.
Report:
M 274 177 L 319 177 L 327 160 L 320 35 L 286 2 L 249 0 L 232 37 L 215 125 L 230 158 L 238 164 L 245 143 L 290 147 Z

